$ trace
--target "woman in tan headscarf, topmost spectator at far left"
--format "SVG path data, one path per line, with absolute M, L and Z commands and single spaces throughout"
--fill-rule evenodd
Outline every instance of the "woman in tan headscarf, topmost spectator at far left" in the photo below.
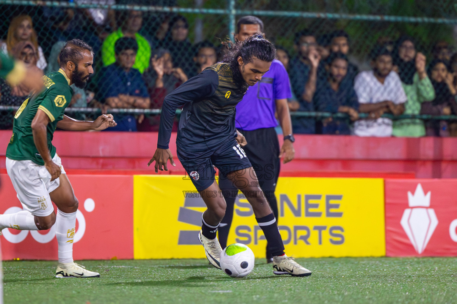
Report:
M 37 67 L 41 70 L 48 65 L 43 55 L 43 49 L 38 45 L 37 33 L 33 29 L 32 18 L 29 15 L 19 15 L 13 18 L 8 28 L 6 41 L 1 43 L 1 49 L 5 53 L 13 55 L 13 49 L 22 41 L 29 41 L 37 50 Z

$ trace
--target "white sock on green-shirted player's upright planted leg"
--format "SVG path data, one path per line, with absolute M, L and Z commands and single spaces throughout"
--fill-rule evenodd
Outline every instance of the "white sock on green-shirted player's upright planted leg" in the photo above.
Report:
M 76 212 L 64 213 L 57 209 L 56 237 L 58 263 L 73 263 L 73 239 L 76 228 Z

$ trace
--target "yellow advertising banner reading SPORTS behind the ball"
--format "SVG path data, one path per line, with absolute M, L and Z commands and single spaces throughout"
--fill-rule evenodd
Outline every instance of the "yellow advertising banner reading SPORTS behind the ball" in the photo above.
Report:
M 239 194 L 228 244 L 244 243 L 265 258 L 265 236 Z M 385 255 L 383 179 L 280 177 L 276 197 L 287 255 Z M 135 175 L 134 258 L 205 258 L 197 237 L 205 209 L 188 177 Z

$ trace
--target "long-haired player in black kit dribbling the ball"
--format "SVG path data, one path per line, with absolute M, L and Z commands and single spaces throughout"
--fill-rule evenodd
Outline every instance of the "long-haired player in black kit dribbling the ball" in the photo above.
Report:
M 157 149 L 148 165 L 155 161 L 155 172 L 168 170 L 168 160 L 175 165 L 168 145 L 176 108 L 183 106 L 176 148 L 181 164 L 207 205 L 199 238 L 208 261 L 221 269 L 222 248 L 216 232 L 226 203 L 214 178 L 214 165 L 250 202 L 271 246 L 273 273 L 303 277 L 311 275 L 311 271 L 284 253 L 276 218 L 240 146 L 244 137 L 235 129 L 235 106 L 248 87 L 268 72 L 275 56 L 275 46 L 262 34 L 255 34 L 234 46 L 223 62 L 207 67 L 167 95 L 162 106 Z

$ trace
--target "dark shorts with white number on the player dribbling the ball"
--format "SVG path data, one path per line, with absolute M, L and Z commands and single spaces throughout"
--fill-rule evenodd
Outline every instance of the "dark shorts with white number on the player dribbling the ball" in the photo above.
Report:
M 212 149 L 202 152 L 187 152 L 177 145 L 176 152 L 178 159 L 181 161 L 187 174 L 191 177 L 197 191 L 203 191 L 213 184 L 214 174 L 216 174 L 213 165 L 223 175 L 252 167 L 239 144 L 230 148 Z

